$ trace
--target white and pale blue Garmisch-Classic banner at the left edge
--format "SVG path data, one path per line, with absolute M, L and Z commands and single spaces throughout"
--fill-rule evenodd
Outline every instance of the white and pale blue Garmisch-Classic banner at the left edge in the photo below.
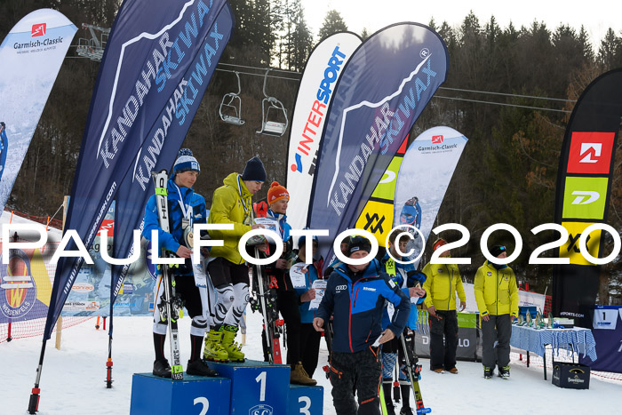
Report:
M 76 30 L 62 13 L 40 9 L 0 44 L 0 214 Z

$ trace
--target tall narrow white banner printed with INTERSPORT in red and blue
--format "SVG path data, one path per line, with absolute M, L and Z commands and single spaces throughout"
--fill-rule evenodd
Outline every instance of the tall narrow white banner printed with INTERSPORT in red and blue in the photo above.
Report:
M 339 32 L 325 38 L 309 54 L 302 73 L 291 119 L 287 156 L 287 191 L 291 200 L 287 221 L 293 229 L 307 225 L 317 150 L 332 92 L 347 60 L 361 42 L 358 35 L 350 32 Z

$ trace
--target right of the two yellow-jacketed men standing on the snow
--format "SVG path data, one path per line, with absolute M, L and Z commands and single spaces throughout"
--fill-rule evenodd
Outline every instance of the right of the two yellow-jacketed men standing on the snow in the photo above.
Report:
M 507 257 L 506 247 L 502 245 L 495 245 L 488 251 L 498 259 Z M 512 320 L 518 315 L 518 286 L 514 271 L 505 264 L 493 264 L 487 260 L 475 274 L 474 289 L 482 325 L 483 377 L 492 377 L 496 363 L 499 378 L 509 378 Z M 497 347 L 494 347 L 495 339 L 498 340 Z

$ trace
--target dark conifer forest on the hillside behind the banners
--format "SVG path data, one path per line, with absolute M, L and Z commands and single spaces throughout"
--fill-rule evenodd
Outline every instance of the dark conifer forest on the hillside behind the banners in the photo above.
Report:
M 0 4 L 0 38 L 28 12 L 51 7 L 64 13 L 78 28 L 82 23 L 112 27 L 119 0 L 4 0 Z M 311 33 L 300 0 L 229 0 L 235 13 L 235 31 L 221 63 L 271 72 L 267 93 L 291 110 L 299 73 L 308 53 L 324 36 L 347 30 L 339 12 L 326 14 L 318 33 Z M 411 19 L 416 19 L 412 16 Z M 596 76 L 622 67 L 622 33 L 609 29 L 594 44 L 586 28 L 561 24 L 549 28 L 534 20 L 529 27 L 505 28 L 494 16 L 470 12 L 451 26 L 436 16 L 426 23 L 443 37 L 450 56 L 447 82 L 428 104 L 411 132 L 447 125 L 469 139 L 451 180 L 437 223 L 457 222 L 471 233 L 470 242 L 454 256 L 472 258 L 464 267 L 467 279 L 483 261 L 482 232 L 492 224 L 508 223 L 523 238 L 522 256 L 513 264 L 519 279 L 542 292 L 550 291 L 551 269 L 527 265 L 530 253 L 555 238 L 532 235 L 530 229 L 554 220 L 554 190 L 563 134 L 574 101 Z M 400 20 L 409 20 L 402 14 Z M 371 35 L 367 29 L 359 34 Z M 78 37 L 89 37 L 79 29 Z M 1 64 L 1 63 L 0 63 Z M 60 69 L 50 99 L 12 190 L 9 206 L 31 214 L 51 214 L 70 192 L 76 161 L 100 63 L 78 59 L 76 49 Z M 289 131 L 281 138 L 257 134 L 261 124 L 263 70 L 221 65 L 211 80 L 184 146 L 192 148 L 202 165 L 195 185 L 208 204 L 211 193 L 231 171 L 241 171 L 245 160 L 259 155 L 268 180 L 284 182 Z M 237 90 L 232 69 L 241 75 L 242 126 L 223 123 L 219 105 L 223 94 Z M 611 186 L 609 223 L 622 229 L 622 152 L 618 140 L 615 177 Z M 320 166 L 321 168 L 321 166 Z M 265 190 L 259 196 L 265 196 Z M 295 203 L 295 201 L 292 201 Z M 458 239 L 459 235 L 448 235 Z M 609 238 L 610 239 L 610 238 Z M 514 246 L 509 234 L 494 235 L 496 242 Z M 429 241 L 428 241 L 429 243 Z M 608 245 L 611 245 L 610 241 Z M 550 252 L 549 252 L 550 254 Z M 609 301 L 622 266 L 602 267 L 601 303 Z M 615 291 L 612 291 L 615 294 Z

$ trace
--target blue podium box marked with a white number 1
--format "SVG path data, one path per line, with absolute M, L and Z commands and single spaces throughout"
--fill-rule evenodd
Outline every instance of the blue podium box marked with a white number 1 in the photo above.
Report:
M 220 376 L 231 379 L 231 414 L 281 415 L 289 413 L 290 367 L 247 360 L 210 363 Z

